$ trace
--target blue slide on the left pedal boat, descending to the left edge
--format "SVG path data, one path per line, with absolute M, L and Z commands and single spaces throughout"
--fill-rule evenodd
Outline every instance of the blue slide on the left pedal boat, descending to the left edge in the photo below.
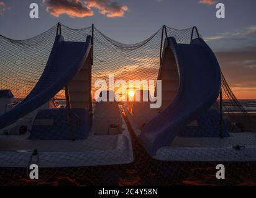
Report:
M 57 35 L 39 81 L 19 105 L 0 115 L 0 129 L 15 123 L 53 98 L 78 74 L 90 49 L 89 35 L 85 42 L 64 41 L 61 35 Z

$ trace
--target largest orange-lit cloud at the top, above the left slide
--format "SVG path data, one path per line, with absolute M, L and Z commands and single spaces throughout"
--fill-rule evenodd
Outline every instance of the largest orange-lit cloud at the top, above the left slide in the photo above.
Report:
M 128 10 L 127 6 L 120 6 L 110 0 L 43 0 L 42 5 L 46 11 L 55 17 L 66 14 L 70 17 L 88 17 L 94 15 L 91 10 L 96 8 L 100 14 L 107 17 L 122 17 Z

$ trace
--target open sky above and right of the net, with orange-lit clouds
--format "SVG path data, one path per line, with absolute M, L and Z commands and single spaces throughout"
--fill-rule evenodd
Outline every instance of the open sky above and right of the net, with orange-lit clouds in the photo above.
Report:
M 29 5 L 39 4 L 39 19 Z M 226 19 L 217 19 L 224 3 Z M 71 28 L 94 24 L 122 43 L 137 43 L 162 25 L 198 27 L 216 53 L 227 82 L 238 98 L 256 98 L 255 0 L 0 0 L 0 35 L 22 40 L 57 22 Z

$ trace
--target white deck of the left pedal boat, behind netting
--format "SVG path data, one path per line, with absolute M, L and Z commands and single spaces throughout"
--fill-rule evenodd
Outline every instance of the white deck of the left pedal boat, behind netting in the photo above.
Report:
M 132 142 L 122 118 L 119 135 L 96 136 L 86 140 L 29 140 L 24 136 L 0 136 L 0 167 L 27 167 L 38 161 L 41 168 L 124 165 L 133 161 Z M 38 154 L 33 155 L 37 149 Z

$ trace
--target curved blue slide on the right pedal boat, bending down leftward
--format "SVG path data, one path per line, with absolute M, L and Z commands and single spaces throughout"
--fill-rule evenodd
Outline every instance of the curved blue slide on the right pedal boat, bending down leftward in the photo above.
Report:
M 160 147 L 169 146 L 181 129 L 216 102 L 221 88 L 219 63 L 201 38 L 190 44 L 177 44 L 168 38 L 178 67 L 180 85 L 170 105 L 155 116 L 139 135 L 140 140 L 155 155 Z

